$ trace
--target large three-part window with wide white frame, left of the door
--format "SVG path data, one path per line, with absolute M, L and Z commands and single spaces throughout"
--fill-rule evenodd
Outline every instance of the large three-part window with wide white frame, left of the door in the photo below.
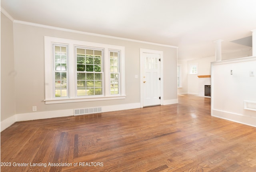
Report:
M 45 37 L 46 104 L 123 98 L 124 47 Z

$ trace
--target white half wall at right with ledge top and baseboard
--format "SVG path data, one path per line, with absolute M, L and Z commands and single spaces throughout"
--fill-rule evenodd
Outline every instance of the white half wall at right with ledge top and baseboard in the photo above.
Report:
M 256 57 L 212 63 L 212 116 L 256 126 L 256 111 L 244 109 L 244 101 L 252 101 L 256 110 L 256 74 L 250 71 L 256 72 Z

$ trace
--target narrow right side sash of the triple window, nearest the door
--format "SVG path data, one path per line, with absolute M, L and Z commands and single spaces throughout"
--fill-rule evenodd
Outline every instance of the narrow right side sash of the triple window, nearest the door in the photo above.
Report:
M 110 94 L 119 94 L 119 52 L 110 51 Z

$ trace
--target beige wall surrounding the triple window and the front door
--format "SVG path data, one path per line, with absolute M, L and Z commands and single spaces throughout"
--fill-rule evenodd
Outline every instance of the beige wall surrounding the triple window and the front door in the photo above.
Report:
M 10 24 L 12 25 L 12 22 Z M 8 29 L 12 30 L 12 28 L 7 28 L 6 30 Z M 6 30 L 5 32 L 7 32 Z M 45 104 L 44 36 L 124 46 L 126 69 L 126 98 L 122 100 Z M 1 49 L 1 55 L 2 53 L 14 54 L 14 58 L 13 55 L 11 58 L 12 63 L 14 64 L 11 65 L 10 70 L 15 71 L 15 78 L 13 78 L 12 84 L 10 84 L 10 86 L 14 87 L 15 85 L 15 87 L 13 89 L 10 88 L 10 90 L 12 90 L 12 94 L 10 96 L 13 96 L 15 93 L 15 99 L 12 99 L 14 105 L 12 106 L 12 111 L 14 111 L 15 114 L 12 113 L 12 115 L 14 114 L 13 116 L 6 116 L 6 118 L 13 117 L 12 119 L 15 119 L 16 121 L 22 121 L 58 116 L 70 116 L 73 115 L 72 110 L 74 109 L 99 106 L 104 107 L 108 111 L 139 108 L 140 78 L 136 78 L 135 75 L 140 76 L 140 48 L 163 51 L 164 72 L 162 78 L 164 83 L 164 102 L 167 102 L 168 104 L 168 102 L 178 101 L 176 80 L 177 48 L 175 47 L 164 46 L 160 44 L 148 44 L 145 42 L 132 41 L 127 39 L 116 39 L 110 36 L 93 36 L 80 32 L 70 32 L 65 29 L 58 30 L 52 27 L 41 27 L 37 24 L 27 24 L 20 21 L 15 21 L 13 23 L 13 35 L 8 34 L 6 40 L 8 39 L 14 40 L 14 42 L 12 43 L 13 47 L 12 49 L 3 50 L 3 52 Z M 6 52 L 7 50 L 8 52 Z M 4 82 L 1 82 L 1 88 L 3 83 Z M 2 97 L 1 95 L 1 98 L 2 100 L 5 100 L 8 98 L 8 95 L 4 95 L 4 97 Z M 4 101 L 1 101 L 1 106 L 2 103 L 4 104 Z M 32 112 L 32 106 L 37 106 L 36 112 Z M 10 106 L 8 107 L 10 108 Z M 1 118 L 5 118 L 4 115 L 5 113 L 1 113 Z

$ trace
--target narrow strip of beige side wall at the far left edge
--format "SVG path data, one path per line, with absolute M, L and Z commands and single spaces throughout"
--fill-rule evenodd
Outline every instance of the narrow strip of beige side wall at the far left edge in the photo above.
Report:
M 15 77 L 13 24 L 1 13 L 1 122 L 15 114 Z

